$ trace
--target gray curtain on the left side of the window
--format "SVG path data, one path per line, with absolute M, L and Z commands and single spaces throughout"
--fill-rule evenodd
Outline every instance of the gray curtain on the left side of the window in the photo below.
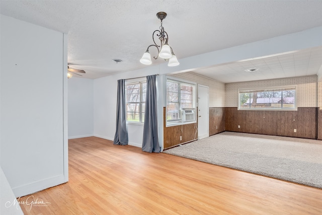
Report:
M 126 104 L 125 104 L 125 80 L 117 81 L 117 107 L 116 107 L 116 131 L 114 145 L 127 145 L 128 134 L 126 128 Z

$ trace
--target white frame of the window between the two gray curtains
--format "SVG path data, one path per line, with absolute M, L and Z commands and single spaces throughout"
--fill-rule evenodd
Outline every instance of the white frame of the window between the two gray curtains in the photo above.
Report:
M 126 114 L 126 124 L 135 124 L 135 125 L 143 125 L 144 123 L 144 111 L 143 110 L 143 103 L 145 103 L 145 98 L 144 98 L 144 102 L 143 102 L 143 83 L 146 83 L 146 79 L 133 79 L 133 80 L 126 80 L 125 81 L 125 107 L 126 107 L 126 110 L 125 110 L 125 114 Z M 127 120 L 127 104 L 128 104 L 128 101 L 127 101 L 127 85 L 135 85 L 135 84 L 140 84 L 139 85 L 139 90 L 140 90 L 140 101 L 139 102 L 136 102 L 139 104 L 139 121 L 129 121 Z M 145 92 L 146 93 L 146 92 Z M 142 120 L 143 119 L 143 120 Z

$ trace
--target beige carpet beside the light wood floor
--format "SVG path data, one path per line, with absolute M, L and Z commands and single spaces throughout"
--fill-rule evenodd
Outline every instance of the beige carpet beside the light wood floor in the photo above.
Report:
M 322 141 L 223 132 L 164 153 L 322 189 Z

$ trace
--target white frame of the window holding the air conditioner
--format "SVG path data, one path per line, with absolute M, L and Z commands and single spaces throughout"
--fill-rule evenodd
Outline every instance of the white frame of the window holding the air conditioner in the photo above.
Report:
M 173 82 L 177 82 L 177 83 L 180 83 L 180 84 L 187 84 L 187 85 L 191 85 L 193 87 L 193 90 L 192 90 L 192 109 L 195 109 L 195 120 L 193 121 L 185 121 L 183 122 L 182 121 L 182 118 L 180 117 L 180 120 L 167 120 L 167 115 L 168 115 L 168 95 L 167 95 L 167 92 L 168 92 L 168 88 L 167 88 L 167 85 L 168 85 L 168 80 L 170 81 L 173 81 Z M 183 80 L 183 79 L 178 79 L 178 78 L 174 78 L 174 77 L 168 77 L 166 78 L 166 83 L 165 83 L 165 100 L 166 100 L 166 127 L 171 127 L 171 126 L 176 126 L 176 125 L 184 125 L 184 124 L 191 124 L 191 123 L 196 123 L 197 122 L 197 99 L 196 99 L 196 95 L 197 95 L 197 83 L 195 82 L 190 82 L 190 81 L 187 81 L 187 80 Z M 180 109 L 181 109 L 181 93 L 179 93 L 178 95 L 179 97 L 179 106 L 180 106 Z

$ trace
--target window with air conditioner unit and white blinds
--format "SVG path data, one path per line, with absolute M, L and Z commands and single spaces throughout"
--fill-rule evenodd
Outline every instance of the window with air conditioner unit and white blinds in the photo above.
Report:
M 167 125 L 195 122 L 196 85 L 167 79 Z

